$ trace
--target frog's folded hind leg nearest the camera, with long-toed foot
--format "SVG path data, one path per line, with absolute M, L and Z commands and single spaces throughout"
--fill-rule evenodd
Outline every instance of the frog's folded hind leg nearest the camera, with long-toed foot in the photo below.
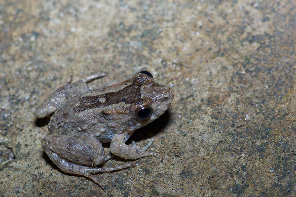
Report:
M 110 168 L 96 167 L 98 164 L 107 162 L 111 156 L 105 156 L 102 143 L 87 134 L 46 135 L 42 140 L 42 148 L 50 160 L 62 171 L 88 177 L 102 188 L 103 186 L 93 176 L 93 173 L 110 172 L 135 166 L 126 164 Z

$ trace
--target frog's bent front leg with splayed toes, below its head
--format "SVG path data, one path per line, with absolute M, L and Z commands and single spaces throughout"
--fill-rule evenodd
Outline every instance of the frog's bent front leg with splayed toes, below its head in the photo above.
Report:
M 110 144 L 111 153 L 118 157 L 131 160 L 136 160 L 142 157 L 155 156 L 155 153 L 146 153 L 146 150 L 153 143 L 153 139 L 150 139 L 149 143 L 145 147 L 141 149 L 136 149 L 134 146 L 132 147 L 125 144 L 128 137 L 128 134 L 114 134 Z

